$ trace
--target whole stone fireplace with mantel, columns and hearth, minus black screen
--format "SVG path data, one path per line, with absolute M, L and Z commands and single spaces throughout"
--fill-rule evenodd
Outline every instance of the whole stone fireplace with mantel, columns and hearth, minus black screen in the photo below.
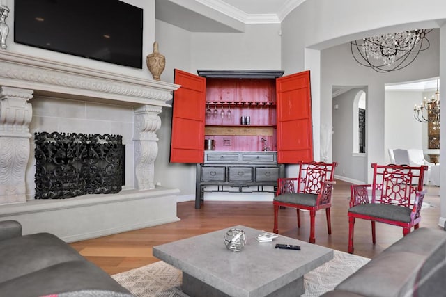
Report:
M 176 88 L 172 83 L 0 51 L 0 219 L 20 218 L 25 234 L 52 231 L 69 241 L 178 220 L 178 189 L 160 188 L 154 182 L 159 113 L 169 106 L 166 102 Z M 107 113 L 124 120 L 108 123 Z M 124 190 L 57 202 L 34 200 L 33 133 L 53 126 L 70 129 L 61 132 L 96 133 L 94 129 L 105 129 L 103 123 L 122 130 L 105 133 L 123 134 L 126 141 Z

